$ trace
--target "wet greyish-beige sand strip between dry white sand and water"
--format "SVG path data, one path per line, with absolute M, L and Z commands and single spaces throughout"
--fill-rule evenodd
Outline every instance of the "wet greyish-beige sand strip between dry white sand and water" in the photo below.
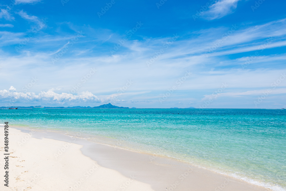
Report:
M 10 128 L 21 130 L 22 136 L 30 137 L 27 133 L 31 129 Z M 34 139 L 52 139 L 64 141 L 65 144 L 81 145 L 83 156 L 96 161 L 103 168 L 115 170 L 125 178 L 135 176 L 134 180 L 145 186 L 150 185 L 153 190 L 270 190 L 172 158 L 124 150 L 59 132 L 38 130 L 28 140 Z

